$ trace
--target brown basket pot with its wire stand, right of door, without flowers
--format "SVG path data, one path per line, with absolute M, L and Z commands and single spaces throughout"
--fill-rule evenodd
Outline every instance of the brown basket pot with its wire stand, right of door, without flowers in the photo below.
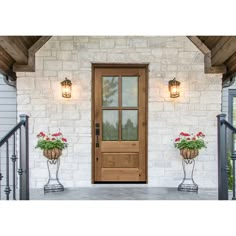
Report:
M 195 157 L 198 156 L 198 149 L 181 149 L 180 155 L 183 157 L 182 165 L 184 178 L 178 186 L 179 191 L 197 192 L 198 185 L 193 180 L 193 171 L 195 166 Z

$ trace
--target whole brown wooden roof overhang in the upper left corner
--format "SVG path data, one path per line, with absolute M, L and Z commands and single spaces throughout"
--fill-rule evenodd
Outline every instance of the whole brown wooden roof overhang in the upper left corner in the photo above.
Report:
M 50 36 L 0 36 L 0 72 L 16 80 L 16 72 L 35 70 L 35 53 Z

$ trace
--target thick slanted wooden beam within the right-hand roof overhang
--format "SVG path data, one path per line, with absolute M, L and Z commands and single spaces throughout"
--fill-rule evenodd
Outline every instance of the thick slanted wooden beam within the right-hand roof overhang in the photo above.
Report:
M 236 52 L 236 37 L 222 37 L 211 50 L 211 64 L 224 64 Z

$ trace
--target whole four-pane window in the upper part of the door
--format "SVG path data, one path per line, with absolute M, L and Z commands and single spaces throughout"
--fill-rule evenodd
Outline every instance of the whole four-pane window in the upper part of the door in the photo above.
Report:
M 132 87 L 132 84 L 134 84 L 133 87 Z M 131 94 L 128 93 L 129 90 Z M 104 96 L 104 92 L 106 93 L 105 96 Z M 118 140 L 119 141 L 137 141 L 138 140 L 138 110 L 139 110 L 138 94 L 139 94 L 138 76 L 117 76 L 117 75 L 102 76 L 102 120 L 103 120 L 102 138 L 103 138 L 103 141 L 114 141 L 114 140 L 115 141 L 118 141 Z M 132 95 L 134 97 L 133 101 L 131 100 Z M 117 111 L 118 124 L 114 125 L 112 124 L 114 122 L 111 122 L 111 121 L 108 122 L 106 114 L 109 114 L 109 113 L 106 113 L 106 112 L 104 113 L 104 111 L 114 111 L 114 112 Z M 135 113 L 136 113 L 136 117 L 134 115 Z M 127 119 L 127 114 L 133 114 L 133 115 L 131 115 L 131 117 Z M 104 119 L 106 119 L 105 122 L 104 122 Z M 118 137 L 117 137 L 117 128 L 118 128 Z

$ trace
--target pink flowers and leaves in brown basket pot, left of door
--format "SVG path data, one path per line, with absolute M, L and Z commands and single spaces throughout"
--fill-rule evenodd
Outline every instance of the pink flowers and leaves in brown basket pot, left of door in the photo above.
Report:
M 36 148 L 43 150 L 43 155 L 48 159 L 58 159 L 62 154 L 62 150 L 68 146 L 67 139 L 63 137 L 61 132 L 54 134 L 40 132 L 37 138 Z

